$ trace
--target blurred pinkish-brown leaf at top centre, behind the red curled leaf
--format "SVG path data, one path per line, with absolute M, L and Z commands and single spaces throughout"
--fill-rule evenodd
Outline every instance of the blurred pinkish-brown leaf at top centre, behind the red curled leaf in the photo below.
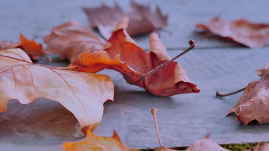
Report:
M 124 13 L 118 5 L 109 8 L 104 4 L 100 8 L 83 8 L 88 16 L 91 28 L 98 27 L 102 36 L 109 39 L 115 27 L 123 16 L 130 18 L 127 32 L 130 36 L 153 32 L 155 29 L 167 26 L 167 16 L 162 16 L 159 8 L 151 12 L 149 7 L 143 7 L 131 2 L 129 13 Z

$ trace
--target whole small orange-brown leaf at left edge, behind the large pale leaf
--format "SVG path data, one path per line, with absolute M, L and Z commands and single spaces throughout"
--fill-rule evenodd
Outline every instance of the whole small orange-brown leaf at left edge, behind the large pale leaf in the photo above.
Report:
M 43 48 L 41 44 L 37 44 L 34 40 L 28 40 L 22 34 L 20 34 L 21 43 L 13 43 L 3 41 L 0 43 L 0 50 L 21 48 L 23 49 L 32 60 L 39 60 L 41 56 L 44 56 L 42 52 Z

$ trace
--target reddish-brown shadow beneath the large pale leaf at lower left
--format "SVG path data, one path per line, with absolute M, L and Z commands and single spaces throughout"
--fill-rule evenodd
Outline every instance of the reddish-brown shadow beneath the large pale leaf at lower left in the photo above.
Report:
M 10 100 L 0 113 L 0 141 L 16 145 L 59 145 L 85 137 L 75 116 L 60 103 L 38 98 L 29 104 Z

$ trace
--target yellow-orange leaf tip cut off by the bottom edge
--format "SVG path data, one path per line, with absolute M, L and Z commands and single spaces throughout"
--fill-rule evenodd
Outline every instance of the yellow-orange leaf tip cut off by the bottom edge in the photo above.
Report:
M 65 151 L 77 150 L 102 150 L 102 151 L 136 151 L 136 149 L 128 148 L 120 139 L 117 132 L 114 130 L 112 137 L 102 137 L 94 135 L 89 130 L 87 131 L 86 139 L 80 142 L 64 142 L 63 149 Z M 137 150 L 138 151 L 138 150 Z

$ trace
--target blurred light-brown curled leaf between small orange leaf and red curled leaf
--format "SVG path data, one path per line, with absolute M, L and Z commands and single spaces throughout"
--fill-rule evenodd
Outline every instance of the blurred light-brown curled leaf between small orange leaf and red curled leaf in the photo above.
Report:
M 60 54 L 60 59 L 68 58 L 71 61 L 85 49 L 103 50 L 105 40 L 94 32 L 69 21 L 52 29 L 51 34 L 44 38 L 47 54 Z

